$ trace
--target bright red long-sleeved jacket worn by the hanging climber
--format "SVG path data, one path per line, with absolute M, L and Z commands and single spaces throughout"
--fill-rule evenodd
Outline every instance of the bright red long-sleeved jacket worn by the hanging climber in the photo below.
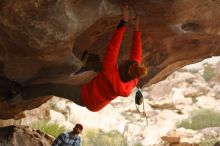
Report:
M 138 83 L 138 78 L 123 82 L 117 68 L 117 58 L 126 26 L 116 29 L 109 42 L 103 59 L 101 72 L 89 83 L 84 84 L 81 90 L 81 99 L 84 106 L 90 111 L 96 112 L 105 107 L 117 96 L 127 97 Z M 141 33 L 135 31 L 130 59 L 141 63 L 142 42 Z

